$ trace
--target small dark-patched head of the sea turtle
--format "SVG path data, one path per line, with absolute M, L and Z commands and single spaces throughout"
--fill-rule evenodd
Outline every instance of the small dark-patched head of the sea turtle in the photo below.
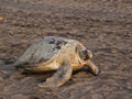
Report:
M 92 58 L 92 53 L 89 50 L 80 50 L 79 57 L 84 61 Z

